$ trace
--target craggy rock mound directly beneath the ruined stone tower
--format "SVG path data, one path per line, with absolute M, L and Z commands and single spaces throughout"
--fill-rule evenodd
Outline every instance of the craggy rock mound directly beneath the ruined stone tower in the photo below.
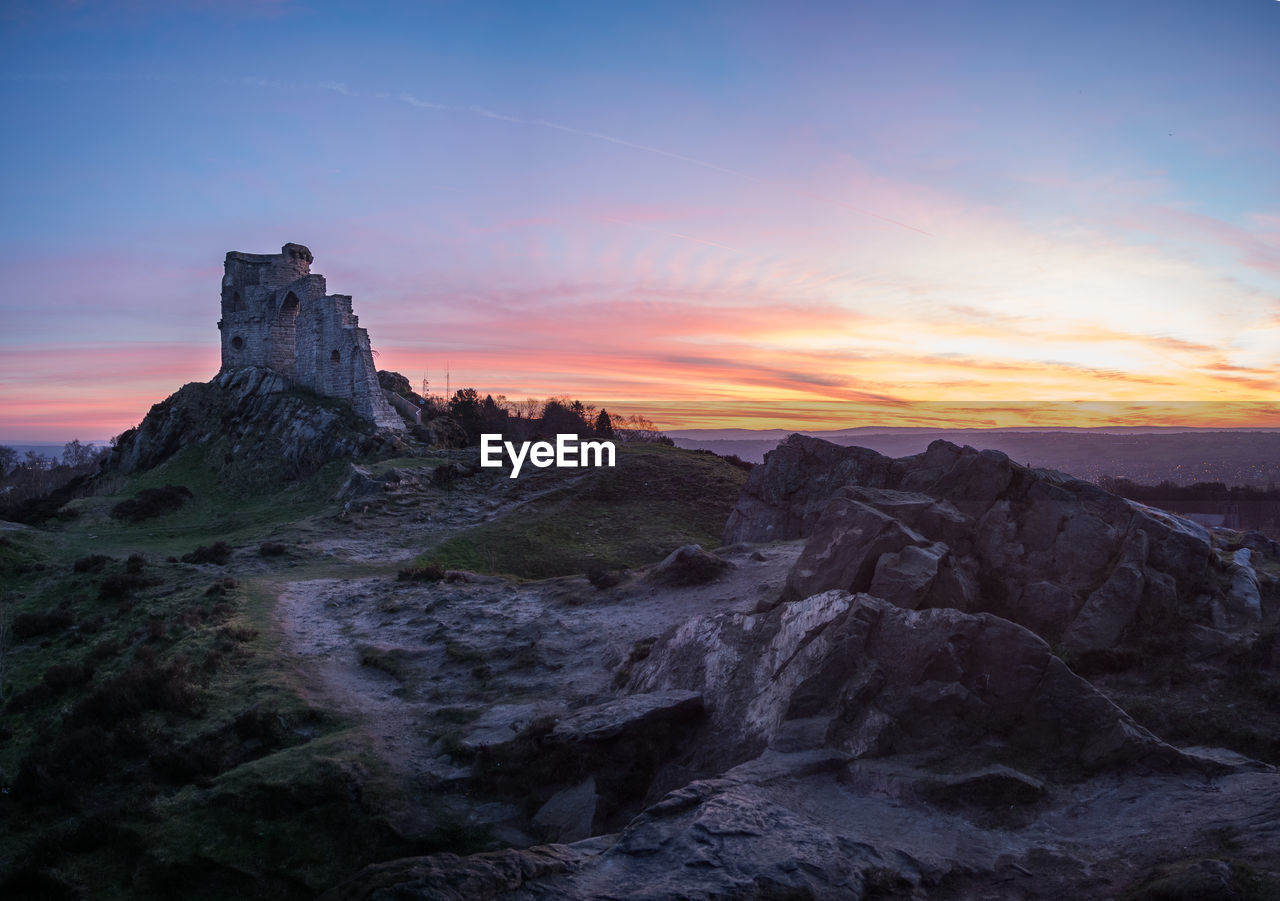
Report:
M 401 434 L 378 429 L 348 403 L 291 389 L 284 376 L 253 367 L 183 385 L 151 407 L 120 435 L 110 466 L 137 472 L 187 448 L 253 479 L 298 479 L 330 459 L 407 450 Z

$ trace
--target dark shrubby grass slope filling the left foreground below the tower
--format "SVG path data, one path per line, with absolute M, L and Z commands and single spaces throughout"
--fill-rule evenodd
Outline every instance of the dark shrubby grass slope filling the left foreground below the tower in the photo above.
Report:
M 314 564 L 262 545 L 330 516 L 338 470 L 238 493 L 188 449 L 4 534 L 0 897 L 303 898 L 422 850 L 385 825 L 394 792 L 351 723 L 282 666 L 275 586 Z M 169 484 L 182 509 L 110 516 Z

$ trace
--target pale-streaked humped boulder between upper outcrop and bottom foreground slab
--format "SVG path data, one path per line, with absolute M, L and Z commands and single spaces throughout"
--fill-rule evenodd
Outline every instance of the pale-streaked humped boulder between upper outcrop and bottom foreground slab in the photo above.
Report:
M 786 724 L 815 718 L 829 721 L 822 745 L 851 756 L 995 737 L 1088 767 L 1187 764 L 1028 630 L 846 591 L 692 619 L 637 664 L 631 685 L 704 695 L 710 724 L 698 756 L 707 767 L 780 737 L 794 746 Z

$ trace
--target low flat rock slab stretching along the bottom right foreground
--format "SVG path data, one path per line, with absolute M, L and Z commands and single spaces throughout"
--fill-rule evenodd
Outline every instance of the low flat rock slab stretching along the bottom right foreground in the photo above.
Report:
M 376 864 L 321 901 L 1056 901 L 1183 897 L 1184 884 L 1187 897 L 1229 897 L 1219 892 L 1229 869 L 1208 857 L 1215 831 L 1252 815 L 1253 828 L 1230 834 L 1233 856 L 1253 860 L 1280 838 L 1270 774 L 1212 785 L 1108 776 L 1057 788 L 1065 809 L 1041 814 L 1053 792 L 1036 777 L 920 764 L 765 754 L 669 792 L 613 836 Z M 1172 851 L 1170 818 L 1194 824 Z

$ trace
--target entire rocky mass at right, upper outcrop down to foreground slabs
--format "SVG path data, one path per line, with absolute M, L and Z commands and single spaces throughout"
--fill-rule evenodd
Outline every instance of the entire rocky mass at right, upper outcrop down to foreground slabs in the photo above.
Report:
M 1280 755 L 1176 741 L 1073 669 L 1105 658 L 1171 706 L 1275 685 L 1266 538 L 998 453 L 800 436 L 724 538 L 703 584 L 655 573 L 576 617 L 675 617 L 579 662 L 612 694 L 494 708 L 461 740 L 442 786 L 480 810 L 521 785 L 506 827 L 561 843 L 376 864 L 325 897 L 1275 897 Z

